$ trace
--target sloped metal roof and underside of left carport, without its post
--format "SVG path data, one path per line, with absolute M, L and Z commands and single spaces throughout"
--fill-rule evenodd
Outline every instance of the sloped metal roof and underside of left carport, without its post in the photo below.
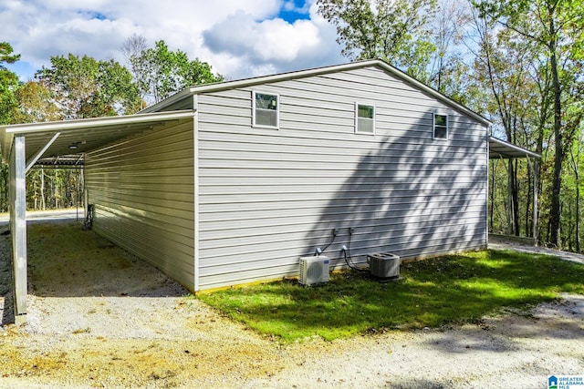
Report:
M 4 126 L 0 127 L 2 157 L 6 162 L 13 138 L 24 136 L 27 161 L 38 157 L 36 163 L 42 165 L 51 164 L 51 161 L 56 165 L 71 165 L 79 160 L 82 163 L 81 156 L 85 152 L 192 119 L 193 111 L 183 110 Z M 46 149 L 43 151 L 43 148 Z M 42 155 L 38 156 L 41 151 Z

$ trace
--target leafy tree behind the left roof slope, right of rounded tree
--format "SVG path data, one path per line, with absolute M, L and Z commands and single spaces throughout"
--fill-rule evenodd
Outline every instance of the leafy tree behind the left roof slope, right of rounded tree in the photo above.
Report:
M 153 48 L 129 54 L 142 96 L 151 97 L 154 102 L 170 97 L 185 87 L 223 81 L 222 76 L 214 75 L 208 63 L 191 60 L 182 50 L 170 50 L 163 40 L 156 42 Z

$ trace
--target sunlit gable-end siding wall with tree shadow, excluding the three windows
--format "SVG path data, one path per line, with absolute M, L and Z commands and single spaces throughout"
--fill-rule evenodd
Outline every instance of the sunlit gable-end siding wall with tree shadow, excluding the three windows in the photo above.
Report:
M 280 128 L 252 128 L 252 91 L 278 94 Z M 201 94 L 201 289 L 297 275 L 323 248 L 341 263 L 484 247 L 486 128 L 377 67 Z M 376 135 L 355 134 L 355 103 Z M 449 139 L 433 139 L 433 112 Z

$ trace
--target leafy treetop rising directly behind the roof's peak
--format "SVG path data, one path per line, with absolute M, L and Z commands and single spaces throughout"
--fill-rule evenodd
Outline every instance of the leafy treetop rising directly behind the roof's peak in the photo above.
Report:
M 343 56 L 380 58 L 425 80 L 436 47 L 428 21 L 435 0 L 318 0 L 318 12 L 337 26 Z

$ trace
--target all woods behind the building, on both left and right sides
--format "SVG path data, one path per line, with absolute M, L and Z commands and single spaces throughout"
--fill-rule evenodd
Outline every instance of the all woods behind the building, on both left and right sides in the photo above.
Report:
M 541 154 L 489 166 L 489 230 L 581 251 L 584 166 L 584 0 L 318 0 L 350 60 L 381 58 L 494 123 L 496 138 Z M 0 43 L 0 123 L 131 114 L 183 87 L 224 79 L 209 64 L 131 36 L 126 64 L 51 58 L 21 83 Z M 6 210 L 6 170 L 0 171 Z M 76 169 L 34 169 L 28 206 L 74 205 Z M 537 193 L 539 223 L 534 225 Z M 537 229 L 534 231 L 534 228 Z

